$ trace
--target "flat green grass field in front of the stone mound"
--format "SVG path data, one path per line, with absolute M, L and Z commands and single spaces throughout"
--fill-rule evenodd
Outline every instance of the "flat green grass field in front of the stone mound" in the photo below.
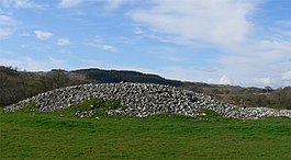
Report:
M 80 107 L 80 106 L 79 106 Z M 291 159 L 291 119 L 0 114 L 0 159 Z

